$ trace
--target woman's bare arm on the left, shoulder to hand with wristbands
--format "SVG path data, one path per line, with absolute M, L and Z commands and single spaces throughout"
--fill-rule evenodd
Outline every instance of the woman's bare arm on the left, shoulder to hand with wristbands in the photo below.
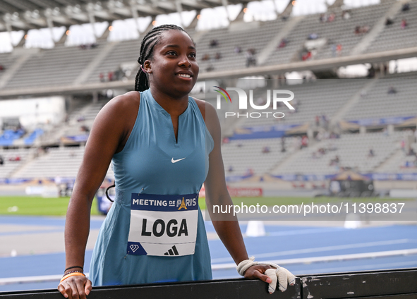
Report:
M 66 268 L 84 266 L 92 200 L 106 176 L 111 158 L 123 150 L 138 114 L 139 101 L 138 92 L 115 97 L 95 118 L 66 214 Z M 66 298 L 85 298 L 91 291 L 91 281 L 84 276 L 71 276 L 58 289 Z

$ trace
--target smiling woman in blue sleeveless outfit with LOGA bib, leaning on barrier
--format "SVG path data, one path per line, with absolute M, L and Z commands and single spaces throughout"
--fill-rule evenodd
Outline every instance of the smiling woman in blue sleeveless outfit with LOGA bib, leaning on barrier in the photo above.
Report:
M 203 216 L 198 211 L 198 205 L 193 205 L 195 201 L 184 200 L 183 196 L 197 197 L 204 183 L 205 200 L 209 207 L 214 203 L 227 207 L 233 202 L 224 178 L 219 144 L 222 134 L 217 126 L 216 109 L 189 97 L 199 72 L 195 44 L 179 26 L 157 26 L 143 37 L 138 62 L 140 68 L 135 91 L 111 99 L 104 106 L 95 118 L 85 145 L 83 164 L 66 214 L 67 269 L 58 286 L 68 299 L 85 299 L 92 290 L 92 284 L 102 286 L 212 278 Z M 212 138 L 207 138 L 205 132 Z M 83 274 L 83 266 L 90 229 L 90 208 L 111 160 L 116 177 L 116 198 L 92 252 L 88 280 Z M 209 163 L 207 167 L 206 161 Z M 193 197 L 188 197 L 191 194 Z M 142 195 L 149 196 L 154 204 L 149 202 L 150 205 L 145 207 L 140 200 L 135 200 Z M 167 197 L 172 199 L 171 196 L 180 202 L 182 197 L 182 202 L 175 209 L 171 207 L 171 214 L 166 214 L 157 208 L 156 201 L 167 204 Z M 197 215 L 186 214 L 191 207 Z M 210 216 L 213 219 L 213 216 L 219 215 L 212 213 Z M 169 246 L 160 243 L 159 233 L 162 231 L 159 231 L 159 236 L 155 236 L 157 233 L 140 234 L 140 230 L 135 233 L 135 229 L 142 225 L 146 229 L 147 220 L 148 229 L 152 225 L 155 230 L 160 228 L 153 219 L 163 223 L 168 219 L 179 220 L 171 226 Z M 267 283 L 272 283 L 271 277 L 275 282 L 279 279 L 279 286 L 271 285 L 270 293 L 276 287 L 284 291 L 287 283 L 294 284 L 295 278 L 288 270 L 276 270 L 269 264 L 261 265 L 249 260 L 236 217 L 231 213 L 222 214 L 222 220 L 213 221 L 213 225 L 238 264 L 238 269 L 241 269 L 240 274 Z M 187 229 L 185 226 L 188 230 L 193 228 L 195 236 L 187 239 L 190 242 L 187 245 L 183 245 L 184 239 L 180 238 L 184 237 L 181 231 Z M 178 234 L 174 233 L 174 227 L 178 228 Z M 164 238 L 168 238 L 171 233 L 163 231 Z

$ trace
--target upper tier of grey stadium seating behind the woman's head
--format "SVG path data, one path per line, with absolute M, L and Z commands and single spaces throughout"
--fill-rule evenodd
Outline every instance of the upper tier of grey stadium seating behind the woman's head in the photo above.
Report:
M 401 8 L 397 1 L 388 0 L 377 5 L 351 8 L 347 19 L 342 17 L 343 11 L 340 8 L 334 8 L 329 12 L 335 16 L 332 22 L 320 22 L 322 16 L 314 14 L 290 17 L 288 20 L 279 18 L 265 22 L 232 23 L 229 28 L 207 32 L 189 29 L 188 32 L 195 37 L 198 45 L 200 73 L 238 70 L 246 68 L 248 49 L 253 50 L 253 56 L 262 66 L 272 66 L 301 61 L 303 54 L 308 53 L 308 50 L 312 53 L 312 59 L 320 60 L 349 56 L 358 44 L 362 44 L 360 51 L 356 51 L 358 53 L 416 47 L 416 41 L 412 38 L 415 33 L 414 24 L 417 23 L 416 6 L 417 2 L 412 1 L 411 9 L 402 12 L 401 9 L 397 9 Z M 387 13 L 393 8 L 395 23 L 382 26 L 373 32 L 373 35 L 377 36 L 366 40 L 373 31 L 373 26 L 383 23 Z M 404 30 L 400 26 L 403 16 L 409 23 Z M 291 22 L 294 22 L 294 26 L 289 25 Z M 357 26 L 368 27 L 368 33 L 355 34 Z M 309 40 L 309 35 L 316 37 Z M 277 37 L 286 39 L 284 47 L 274 47 L 279 44 L 279 41 L 275 40 Z M 217 46 L 210 47 L 212 40 L 217 40 Z M 342 46 L 340 51 L 337 50 L 338 44 Z M 135 61 L 138 59 L 139 47 L 140 39 L 123 42 L 99 40 L 97 47 L 90 49 L 56 44 L 53 49 L 22 49 L 23 51 L 16 54 L 0 54 L 0 64 L 4 65 L 6 70 L 18 63 L 18 58 L 28 55 L 28 60 L 22 66 L 16 65 L 17 69 L 11 74 L 11 78 L 6 78 L 0 73 L 0 86 L 4 85 L 4 90 L 16 90 L 22 86 L 22 82 L 25 83 L 24 87 L 99 83 L 100 73 L 104 75 L 104 81 L 107 81 L 108 73 L 116 72 L 120 68 L 128 68 L 126 78 L 132 79 L 138 68 Z M 240 48 L 240 52 L 237 48 Z M 217 53 L 220 56 L 218 59 L 215 58 Z M 205 55 L 207 56 L 204 60 Z M 310 56 L 304 58 L 310 59 Z M 63 69 L 66 71 L 63 72 Z

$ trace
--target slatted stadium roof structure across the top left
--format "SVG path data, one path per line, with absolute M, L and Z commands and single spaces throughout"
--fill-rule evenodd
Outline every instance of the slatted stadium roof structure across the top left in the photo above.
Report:
M 203 8 L 250 0 L 0 0 L 0 32 L 69 27 Z

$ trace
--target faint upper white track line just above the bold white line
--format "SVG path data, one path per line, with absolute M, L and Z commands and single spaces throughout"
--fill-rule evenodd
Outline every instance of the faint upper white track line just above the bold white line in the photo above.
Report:
M 324 246 L 324 247 L 318 247 L 318 248 L 306 248 L 306 249 L 298 249 L 298 250 L 258 253 L 258 254 L 255 254 L 255 257 L 256 258 L 279 257 L 282 255 L 298 255 L 301 253 L 343 250 L 343 249 L 352 249 L 352 248 L 365 248 L 365 247 L 395 245 L 395 244 L 404 244 L 404 243 L 417 243 L 417 240 L 416 239 L 399 239 L 399 240 L 385 240 L 385 241 L 375 241 L 375 242 L 367 242 L 367 243 L 333 245 L 333 246 Z M 229 261 L 232 261 L 231 257 L 219 257 L 217 259 L 212 259 L 212 263 L 229 262 Z

